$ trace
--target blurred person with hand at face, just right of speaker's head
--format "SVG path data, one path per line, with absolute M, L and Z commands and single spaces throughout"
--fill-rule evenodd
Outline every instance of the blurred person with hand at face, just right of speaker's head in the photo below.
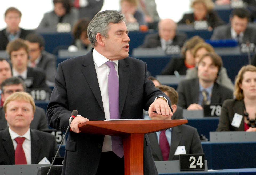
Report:
M 129 31 L 138 31 L 141 26 L 147 25 L 143 13 L 137 9 L 137 0 L 120 0 L 120 6 Z

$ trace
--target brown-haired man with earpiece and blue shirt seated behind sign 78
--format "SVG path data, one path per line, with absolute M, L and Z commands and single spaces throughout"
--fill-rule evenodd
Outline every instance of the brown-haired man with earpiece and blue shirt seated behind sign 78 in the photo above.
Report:
M 183 80 L 177 87 L 178 105 L 187 110 L 202 110 L 209 104 L 222 104 L 233 98 L 233 91 L 216 83 L 222 67 L 221 57 L 213 52 L 204 54 L 198 62 L 198 78 Z

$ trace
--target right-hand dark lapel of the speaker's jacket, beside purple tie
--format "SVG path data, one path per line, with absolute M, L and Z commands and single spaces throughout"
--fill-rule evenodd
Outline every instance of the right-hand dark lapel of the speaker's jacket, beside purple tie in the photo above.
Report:
M 131 69 L 125 60 L 121 59 L 118 62 L 118 76 L 119 76 L 119 111 L 120 117 L 122 117 L 123 107 L 125 105 L 125 99 L 127 96 Z

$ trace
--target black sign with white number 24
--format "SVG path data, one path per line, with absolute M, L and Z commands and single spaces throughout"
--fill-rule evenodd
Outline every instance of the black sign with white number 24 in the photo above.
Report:
M 180 170 L 205 170 L 205 154 L 180 154 Z

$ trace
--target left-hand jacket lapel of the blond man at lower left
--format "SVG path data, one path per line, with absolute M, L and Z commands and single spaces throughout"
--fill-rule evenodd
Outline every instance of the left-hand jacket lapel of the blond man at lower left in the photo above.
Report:
M 5 148 L 8 157 L 11 160 L 12 164 L 15 164 L 15 150 L 13 147 L 13 141 L 11 140 L 11 136 L 8 130 L 8 127 L 4 130 L 3 138 L 2 138 L 2 146 Z

